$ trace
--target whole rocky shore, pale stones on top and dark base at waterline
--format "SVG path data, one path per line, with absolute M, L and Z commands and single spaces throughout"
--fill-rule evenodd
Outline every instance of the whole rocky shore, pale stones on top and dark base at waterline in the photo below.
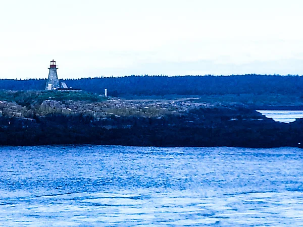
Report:
M 108 99 L 0 101 L 0 145 L 103 144 L 281 147 L 303 141 L 303 121 L 277 123 L 239 103 Z

